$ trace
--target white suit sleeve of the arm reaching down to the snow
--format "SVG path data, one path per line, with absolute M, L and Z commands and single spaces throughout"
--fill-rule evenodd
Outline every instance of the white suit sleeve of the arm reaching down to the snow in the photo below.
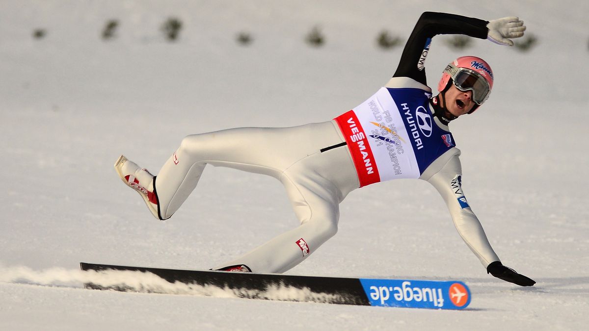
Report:
M 486 268 L 491 262 L 499 261 L 499 257 L 489 244 L 481 222 L 472 212 L 462 191 L 462 167 L 459 155 L 460 150 L 452 148 L 432 163 L 421 179 L 431 183 L 444 198 L 456 230 Z

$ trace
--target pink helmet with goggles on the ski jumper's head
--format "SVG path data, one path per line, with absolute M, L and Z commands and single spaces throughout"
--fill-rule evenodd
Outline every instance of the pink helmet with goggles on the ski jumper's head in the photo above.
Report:
M 493 71 L 484 59 L 478 57 L 459 57 L 450 62 L 438 84 L 438 91 L 443 92 L 449 88 L 452 80 L 454 86 L 461 91 L 472 91 L 472 101 L 479 105 L 487 101 L 491 88 L 493 88 Z M 471 112 L 472 112 L 471 111 Z

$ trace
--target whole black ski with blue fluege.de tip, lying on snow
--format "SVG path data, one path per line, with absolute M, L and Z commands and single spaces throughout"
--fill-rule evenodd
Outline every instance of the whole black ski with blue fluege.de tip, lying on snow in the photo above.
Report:
M 428 309 L 464 309 L 471 301 L 468 287 L 462 282 L 294 276 L 94 263 L 80 263 L 80 267 L 96 272 L 89 275 L 84 287 L 98 290 L 216 296 L 203 291 L 213 286 L 223 290 L 224 297 Z M 112 272 L 126 274 L 112 275 Z M 112 282 L 112 279 L 116 281 Z M 178 287 L 185 292 L 178 292 Z

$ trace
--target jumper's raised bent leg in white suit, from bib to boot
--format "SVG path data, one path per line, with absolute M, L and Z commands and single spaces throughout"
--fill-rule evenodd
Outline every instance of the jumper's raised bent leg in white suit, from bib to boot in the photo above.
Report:
M 161 219 L 170 218 L 180 208 L 196 187 L 206 164 L 279 178 L 282 171 L 307 155 L 341 142 L 332 121 L 189 135 L 155 177 Z

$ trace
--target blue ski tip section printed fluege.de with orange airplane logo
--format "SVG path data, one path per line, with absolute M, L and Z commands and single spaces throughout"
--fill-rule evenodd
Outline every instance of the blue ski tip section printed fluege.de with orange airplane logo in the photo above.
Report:
M 471 292 L 462 282 L 360 279 L 372 306 L 464 309 Z

